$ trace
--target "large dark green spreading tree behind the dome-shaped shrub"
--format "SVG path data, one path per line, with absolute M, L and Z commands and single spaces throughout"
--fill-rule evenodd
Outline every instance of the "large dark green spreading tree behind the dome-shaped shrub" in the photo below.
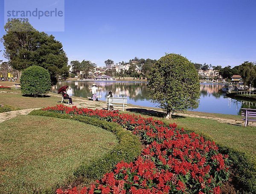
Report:
M 4 29 L 4 56 L 19 74 L 27 67 L 38 65 L 49 71 L 52 85 L 57 83 L 58 76 L 69 76 L 68 58 L 61 42 L 54 36 L 39 32 L 30 23 L 20 20 L 6 23 Z

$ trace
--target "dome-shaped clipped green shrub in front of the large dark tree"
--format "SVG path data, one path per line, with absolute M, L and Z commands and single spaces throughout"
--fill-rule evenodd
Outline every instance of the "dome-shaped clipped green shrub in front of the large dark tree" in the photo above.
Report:
M 51 88 L 50 74 L 43 67 L 28 67 L 22 71 L 20 87 L 23 94 L 29 94 L 35 97 L 44 95 Z

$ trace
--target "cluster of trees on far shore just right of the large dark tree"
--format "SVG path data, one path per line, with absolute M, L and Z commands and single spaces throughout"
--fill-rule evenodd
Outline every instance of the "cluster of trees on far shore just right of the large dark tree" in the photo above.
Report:
M 94 74 L 96 64 L 92 63 L 91 61 L 71 61 L 70 62 L 71 67 L 72 67 L 72 72 L 75 73 L 76 75 L 80 75 L 81 78 L 87 79 L 89 76 L 89 73 L 92 72 Z M 80 74 L 81 72 L 81 74 Z

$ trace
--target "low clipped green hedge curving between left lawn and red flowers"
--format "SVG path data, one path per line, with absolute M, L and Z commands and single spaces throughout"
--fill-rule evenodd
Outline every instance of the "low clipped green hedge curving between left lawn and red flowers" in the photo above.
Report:
M 56 184 L 52 188 L 44 191 L 46 193 L 55 192 L 57 188 L 67 186 L 74 182 L 79 177 L 90 178 L 93 180 L 101 178 L 106 172 L 111 171 L 120 161 L 131 162 L 141 154 L 143 145 L 138 136 L 135 136 L 129 130 L 125 130 L 116 123 L 110 123 L 104 120 L 89 116 L 70 116 L 61 113 L 53 113 L 43 110 L 33 110 L 29 113 L 33 116 L 47 116 L 58 119 L 73 119 L 86 124 L 101 127 L 104 130 L 110 131 L 116 135 L 118 144 L 113 146 L 110 152 L 106 153 L 103 158 L 100 158 L 90 165 L 81 164 L 76 171 L 73 172 L 73 177 L 67 177 L 67 180 L 62 184 Z

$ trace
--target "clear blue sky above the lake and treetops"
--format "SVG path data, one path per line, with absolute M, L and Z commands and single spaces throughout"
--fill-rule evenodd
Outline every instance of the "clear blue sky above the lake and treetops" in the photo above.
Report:
M 62 42 L 70 61 L 103 66 L 107 59 L 159 59 L 169 52 L 233 67 L 256 61 L 255 10 L 256 0 L 65 0 L 64 32 L 47 33 Z M 0 37 L 3 11 L 0 0 Z

